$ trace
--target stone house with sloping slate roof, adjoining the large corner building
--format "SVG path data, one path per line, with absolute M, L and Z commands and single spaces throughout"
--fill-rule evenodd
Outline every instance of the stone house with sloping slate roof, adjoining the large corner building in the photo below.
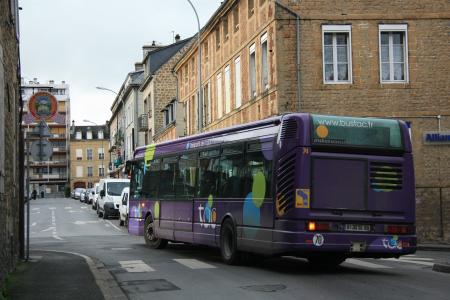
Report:
M 184 109 L 178 105 L 177 77 L 173 67 L 190 46 L 191 39 L 146 52 L 143 60 L 142 92 L 144 111 L 138 130 L 145 132 L 145 144 L 162 142 L 185 135 Z

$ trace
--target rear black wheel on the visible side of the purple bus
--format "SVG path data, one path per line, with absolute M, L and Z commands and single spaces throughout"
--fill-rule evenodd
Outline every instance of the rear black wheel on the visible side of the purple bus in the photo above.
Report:
M 231 219 L 226 219 L 220 230 L 220 253 L 226 264 L 239 263 L 240 253 L 237 250 L 236 228 Z

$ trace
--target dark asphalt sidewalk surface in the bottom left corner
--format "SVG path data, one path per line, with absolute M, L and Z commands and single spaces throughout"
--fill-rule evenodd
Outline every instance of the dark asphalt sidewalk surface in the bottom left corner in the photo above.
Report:
M 11 274 L 7 299 L 104 299 L 83 257 L 33 251 Z

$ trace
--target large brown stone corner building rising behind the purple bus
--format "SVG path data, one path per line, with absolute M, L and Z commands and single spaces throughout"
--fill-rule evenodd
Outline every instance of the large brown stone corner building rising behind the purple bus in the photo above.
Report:
M 289 111 L 403 119 L 419 241 L 448 243 L 449 18 L 446 0 L 224 1 L 201 34 L 201 130 Z M 197 59 L 194 44 L 175 66 L 188 134 L 199 131 Z

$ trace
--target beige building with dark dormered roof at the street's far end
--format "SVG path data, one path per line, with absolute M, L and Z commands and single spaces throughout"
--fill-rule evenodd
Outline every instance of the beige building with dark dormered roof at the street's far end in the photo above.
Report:
M 107 125 L 75 126 L 70 135 L 70 189 L 93 188 L 106 176 L 109 155 Z

